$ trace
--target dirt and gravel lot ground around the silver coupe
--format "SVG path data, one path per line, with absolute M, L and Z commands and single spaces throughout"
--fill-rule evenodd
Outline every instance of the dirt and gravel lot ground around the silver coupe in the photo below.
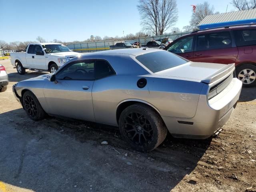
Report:
M 10 79 L 0 93 L 0 192 L 256 191 L 256 88 L 243 88 L 218 137 L 168 135 L 144 154 L 127 146 L 115 127 L 50 117 L 30 120 L 12 85 L 43 73 L 21 76 L 10 60 L 0 64 Z

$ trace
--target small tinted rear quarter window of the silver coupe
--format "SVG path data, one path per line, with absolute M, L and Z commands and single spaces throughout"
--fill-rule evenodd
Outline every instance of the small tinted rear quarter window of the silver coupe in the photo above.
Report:
M 96 60 L 95 78 L 100 79 L 115 74 L 108 62 Z

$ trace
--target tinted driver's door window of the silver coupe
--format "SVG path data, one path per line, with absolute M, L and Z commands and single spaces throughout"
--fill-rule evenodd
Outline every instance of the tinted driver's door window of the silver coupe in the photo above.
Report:
M 94 80 L 94 60 L 72 62 L 56 74 L 59 80 Z

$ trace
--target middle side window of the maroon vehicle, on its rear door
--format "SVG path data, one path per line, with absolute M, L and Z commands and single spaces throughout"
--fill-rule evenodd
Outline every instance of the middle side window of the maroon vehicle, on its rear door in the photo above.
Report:
M 212 50 L 230 48 L 231 43 L 230 32 L 218 32 L 211 34 L 198 35 L 196 50 Z

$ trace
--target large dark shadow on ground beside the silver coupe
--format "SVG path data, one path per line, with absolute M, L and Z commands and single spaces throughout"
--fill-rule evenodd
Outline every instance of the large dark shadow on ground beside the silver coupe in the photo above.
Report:
M 0 180 L 37 192 L 168 192 L 211 143 L 168 136 L 156 150 L 140 153 L 112 126 L 53 117 L 34 122 L 23 109 L 0 114 L 0 122 Z

